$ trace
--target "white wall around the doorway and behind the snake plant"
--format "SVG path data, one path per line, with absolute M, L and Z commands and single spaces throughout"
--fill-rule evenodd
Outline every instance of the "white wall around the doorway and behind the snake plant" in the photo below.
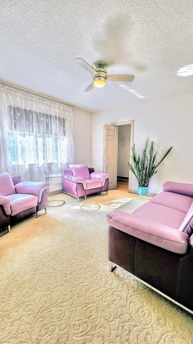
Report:
M 173 146 L 149 184 L 149 192 L 159 193 L 167 181 L 193 183 L 193 97 L 192 92 L 140 100 L 130 106 L 93 113 L 93 167 L 103 170 L 104 124 L 134 120 L 134 143 L 140 154 L 147 136 L 158 149 L 158 159 Z M 132 189 L 137 190 L 135 176 Z

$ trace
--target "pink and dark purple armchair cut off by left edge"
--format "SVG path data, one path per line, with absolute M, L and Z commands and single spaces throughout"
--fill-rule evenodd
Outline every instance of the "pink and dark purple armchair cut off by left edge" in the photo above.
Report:
M 0 235 L 10 232 L 10 224 L 45 209 L 47 183 L 23 181 L 20 175 L 0 171 Z

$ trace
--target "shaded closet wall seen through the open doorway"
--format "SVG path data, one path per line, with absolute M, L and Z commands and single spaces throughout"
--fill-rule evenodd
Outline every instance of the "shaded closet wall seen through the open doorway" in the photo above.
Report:
M 119 177 L 129 176 L 128 161 L 130 152 L 131 125 L 118 127 L 118 159 L 117 175 Z

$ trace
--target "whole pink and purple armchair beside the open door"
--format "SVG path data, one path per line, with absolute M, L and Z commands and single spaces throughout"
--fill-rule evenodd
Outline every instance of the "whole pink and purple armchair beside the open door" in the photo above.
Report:
M 86 200 L 87 195 L 108 192 L 109 174 L 95 172 L 86 165 L 69 165 L 70 169 L 62 170 L 62 190 L 71 196 Z

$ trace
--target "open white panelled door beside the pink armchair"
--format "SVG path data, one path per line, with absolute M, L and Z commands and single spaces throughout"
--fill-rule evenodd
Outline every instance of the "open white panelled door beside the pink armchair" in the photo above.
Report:
M 118 127 L 106 126 L 105 173 L 109 173 L 109 190 L 117 189 Z

